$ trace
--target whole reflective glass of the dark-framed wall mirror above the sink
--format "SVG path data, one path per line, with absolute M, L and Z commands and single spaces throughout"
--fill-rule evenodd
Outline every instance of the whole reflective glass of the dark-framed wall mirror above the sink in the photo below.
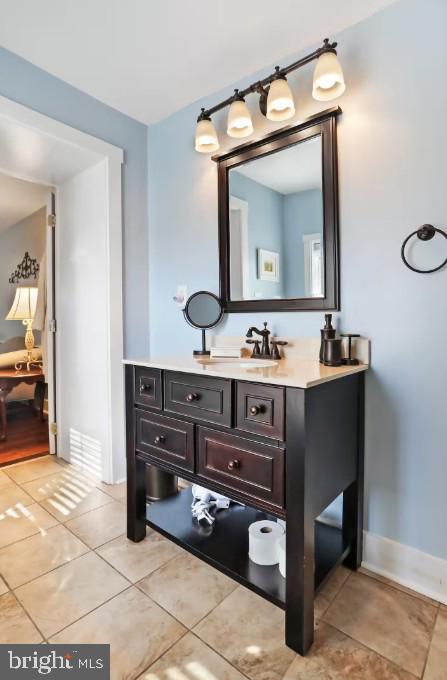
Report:
M 321 136 L 231 168 L 231 300 L 324 297 Z

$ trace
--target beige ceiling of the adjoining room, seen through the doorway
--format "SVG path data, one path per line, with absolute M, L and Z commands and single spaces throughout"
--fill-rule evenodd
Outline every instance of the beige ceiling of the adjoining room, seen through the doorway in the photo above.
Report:
M 0 232 L 46 205 L 48 187 L 0 173 Z

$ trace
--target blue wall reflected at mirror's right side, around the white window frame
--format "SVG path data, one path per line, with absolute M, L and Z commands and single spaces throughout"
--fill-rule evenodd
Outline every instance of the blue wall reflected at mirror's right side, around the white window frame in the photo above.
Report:
M 286 297 L 304 297 L 305 234 L 323 232 L 323 203 L 320 189 L 297 191 L 284 196 L 284 291 Z

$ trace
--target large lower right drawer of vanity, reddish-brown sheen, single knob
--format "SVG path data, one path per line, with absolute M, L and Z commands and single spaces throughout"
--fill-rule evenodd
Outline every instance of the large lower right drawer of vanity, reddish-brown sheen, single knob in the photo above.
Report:
M 284 507 L 284 450 L 198 428 L 197 473 L 245 496 Z

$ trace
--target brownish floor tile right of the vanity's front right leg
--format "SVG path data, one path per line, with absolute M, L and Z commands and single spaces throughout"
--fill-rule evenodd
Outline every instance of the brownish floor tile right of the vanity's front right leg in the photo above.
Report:
M 437 609 L 351 574 L 324 620 L 417 676 L 422 674 Z

